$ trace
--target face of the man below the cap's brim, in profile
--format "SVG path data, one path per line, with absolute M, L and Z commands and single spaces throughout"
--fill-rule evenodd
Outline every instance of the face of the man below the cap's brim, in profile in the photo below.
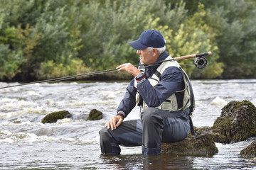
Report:
M 137 50 L 137 55 L 139 55 L 140 62 L 143 62 L 144 64 L 156 62 L 158 58 L 158 55 L 156 54 L 156 49 L 153 49 L 152 51 L 148 51 L 146 48 L 143 50 Z

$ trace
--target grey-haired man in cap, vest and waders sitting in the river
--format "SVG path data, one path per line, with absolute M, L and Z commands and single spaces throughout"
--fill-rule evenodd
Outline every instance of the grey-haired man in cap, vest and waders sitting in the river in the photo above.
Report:
M 120 154 L 119 145 L 142 146 L 142 154 L 158 155 L 161 142 L 183 140 L 190 132 L 189 113 L 193 110 L 190 82 L 178 62 L 151 64 L 171 59 L 159 31 L 145 30 L 130 45 L 137 50 L 140 62 L 148 65 L 142 69 L 130 63 L 117 67 L 119 72 L 134 75 L 134 79 L 117 108 L 117 115 L 100 130 L 101 151 Z M 141 119 L 123 121 L 136 104 L 142 107 Z

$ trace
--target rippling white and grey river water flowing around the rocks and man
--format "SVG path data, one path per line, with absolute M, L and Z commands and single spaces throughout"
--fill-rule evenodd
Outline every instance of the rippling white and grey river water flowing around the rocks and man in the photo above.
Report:
M 0 82 L 0 86 L 10 86 Z M 256 105 L 256 79 L 192 81 L 196 97 L 193 123 L 211 127 L 229 101 Z M 142 147 L 122 147 L 119 156 L 102 156 L 98 131 L 116 113 L 128 82 L 58 82 L 0 89 L 0 169 L 256 169 L 255 159 L 240 151 L 255 140 L 223 145 L 218 154 L 188 157 L 142 156 Z M 86 120 L 90 111 L 102 120 Z M 73 119 L 42 124 L 54 111 Z M 139 108 L 127 117 L 137 119 Z

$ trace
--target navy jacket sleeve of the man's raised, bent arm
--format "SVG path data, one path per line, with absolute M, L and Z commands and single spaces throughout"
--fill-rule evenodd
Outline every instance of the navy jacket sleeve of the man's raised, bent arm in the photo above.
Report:
M 167 68 L 160 76 L 159 83 L 151 86 L 148 79 L 139 77 L 137 89 L 144 102 L 149 107 L 158 107 L 178 90 L 184 89 L 181 70 L 177 67 Z

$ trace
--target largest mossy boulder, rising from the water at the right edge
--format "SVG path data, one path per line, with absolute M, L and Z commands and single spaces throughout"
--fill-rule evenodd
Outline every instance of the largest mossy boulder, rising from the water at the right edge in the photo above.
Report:
M 220 117 L 215 120 L 211 129 L 225 136 L 226 143 L 255 137 L 256 108 L 250 101 L 231 101 L 222 108 Z

